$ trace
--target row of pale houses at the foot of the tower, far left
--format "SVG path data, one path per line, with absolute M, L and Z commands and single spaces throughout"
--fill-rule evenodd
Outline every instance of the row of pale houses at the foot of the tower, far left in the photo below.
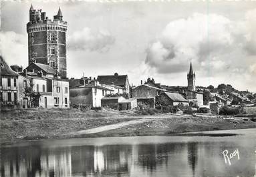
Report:
M 27 108 L 70 108 L 69 82 L 40 71 L 13 71 L 1 57 L 0 103 L 1 109 Z M 38 66 L 37 66 L 38 67 Z M 45 66 L 47 67 L 47 66 Z M 34 94 L 34 96 L 32 96 Z M 38 100 L 34 100 L 36 95 Z

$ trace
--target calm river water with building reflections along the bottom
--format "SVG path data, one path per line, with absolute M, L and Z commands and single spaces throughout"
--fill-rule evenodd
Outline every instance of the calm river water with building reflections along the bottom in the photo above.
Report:
M 209 136 L 79 138 L 1 146 L 1 176 L 256 176 L 256 129 L 207 133 Z M 239 135 L 218 135 L 233 133 Z M 227 155 L 225 163 L 225 150 L 238 150 L 239 158 L 234 154 L 229 164 Z

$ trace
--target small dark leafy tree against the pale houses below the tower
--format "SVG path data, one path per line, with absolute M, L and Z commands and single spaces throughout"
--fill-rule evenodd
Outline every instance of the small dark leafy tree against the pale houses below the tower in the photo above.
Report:
M 29 106 L 31 108 L 37 108 L 39 107 L 39 100 L 41 98 L 41 94 L 39 92 L 33 91 L 33 87 L 26 87 L 25 96 L 29 98 Z

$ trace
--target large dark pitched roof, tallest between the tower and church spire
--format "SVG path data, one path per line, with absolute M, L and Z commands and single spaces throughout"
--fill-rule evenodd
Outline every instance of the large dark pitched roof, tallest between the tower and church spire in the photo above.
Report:
M 128 75 L 98 75 L 97 80 L 102 84 L 111 85 L 126 85 L 126 79 L 128 79 Z

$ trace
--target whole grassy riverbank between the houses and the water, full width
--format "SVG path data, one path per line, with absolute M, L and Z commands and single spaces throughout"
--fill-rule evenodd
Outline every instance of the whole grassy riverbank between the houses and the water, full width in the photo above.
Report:
M 138 121 L 136 121 L 138 120 Z M 128 124 L 127 122 L 134 122 Z M 120 126 L 124 123 L 125 126 Z M 102 132 L 76 134 L 92 128 L 118 124 Z M 1 144 L 23 140 L 108 136 L 174 136 L 182 132 L 255 128 L 251 120 L 223 119 L 220 116 L 142 116 L 134 112 L 70 110 L 12 110 L 1 112 Z

